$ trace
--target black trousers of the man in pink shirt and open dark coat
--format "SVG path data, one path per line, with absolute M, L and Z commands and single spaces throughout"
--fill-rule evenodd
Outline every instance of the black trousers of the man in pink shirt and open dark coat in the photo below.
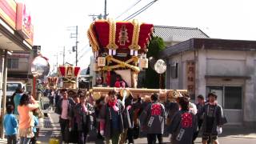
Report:
M 62 131 L 62 142 L 69 142 L 70 120 L 59 118 L 59 124 Z

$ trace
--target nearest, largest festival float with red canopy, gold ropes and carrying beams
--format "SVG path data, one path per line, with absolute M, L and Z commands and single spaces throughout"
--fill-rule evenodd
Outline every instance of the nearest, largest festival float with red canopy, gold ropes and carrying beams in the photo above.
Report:
M 93 87 L 94 99 L 100 98 L 99 95 L 106 94 L 110 90 L 140 94 L 142 97 L 160 93 L 162 100 L 186 93 L 186 90 L 137 88 L 138 73 L 148 67 L 146 52 L 153 32 L 152 24 L 137 20 L 115 22 L 107 19 L 90 24 L 87 36 L 94 53 L 94 71 L 106 85 Z M 120 78 L 125 84 L 120 83 Z

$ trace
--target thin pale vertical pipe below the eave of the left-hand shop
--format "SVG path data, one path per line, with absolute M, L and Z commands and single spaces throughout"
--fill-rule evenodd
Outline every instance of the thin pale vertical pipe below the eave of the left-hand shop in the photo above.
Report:
M 3 134 L 3 118 L 4 114 L 6 112 L 6 83 L 7 83 L 7 50 L 5 50 L 5 56 L 3 58 L 4 64 L 3 64 L 3 77 L 2 77 L 2 127 L 1 127 L 1 138 L 4 138 Z

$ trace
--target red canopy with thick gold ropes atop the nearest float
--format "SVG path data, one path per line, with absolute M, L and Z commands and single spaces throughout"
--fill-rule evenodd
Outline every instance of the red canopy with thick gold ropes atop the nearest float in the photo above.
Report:
M 98 49 L 140 50 L 146 52 L 154 26 L 152 24 L 133 22 L 114 22 L 98 20 L 88 30 L 90 45 Z

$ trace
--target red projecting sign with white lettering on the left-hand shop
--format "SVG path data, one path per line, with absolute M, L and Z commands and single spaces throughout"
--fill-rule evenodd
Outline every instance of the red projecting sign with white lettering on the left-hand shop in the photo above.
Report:
M 31 34 L 33 33 L 31 16 L 24 3 L 17 4 L 16 30 L 24 39 L 30 39 Z

